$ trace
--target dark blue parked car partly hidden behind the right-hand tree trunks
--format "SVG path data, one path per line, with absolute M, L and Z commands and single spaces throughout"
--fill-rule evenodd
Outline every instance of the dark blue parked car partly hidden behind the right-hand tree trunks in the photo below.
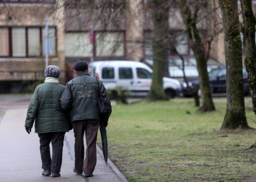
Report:
M 243 89 L 245 95 L 250 95 L 250 88 L 248 83 L 248 74 L 246 72 L 246 68 L 243 67 Z M 226 93 L 226 68 L 213 69 L 209 73 L 209 79 L 211 83 L 212 93 Z M 182 93 L 184 96 L 192 96 L 187 89 L 187 84 L 185 82 L 181 82 L 182 85 Z M 189 85 L 191 88 L 195 88 L 199 85 L 199 79 L 189 81 Z M 199 96 L 201 96 L 201 90 L 198 92 Z

